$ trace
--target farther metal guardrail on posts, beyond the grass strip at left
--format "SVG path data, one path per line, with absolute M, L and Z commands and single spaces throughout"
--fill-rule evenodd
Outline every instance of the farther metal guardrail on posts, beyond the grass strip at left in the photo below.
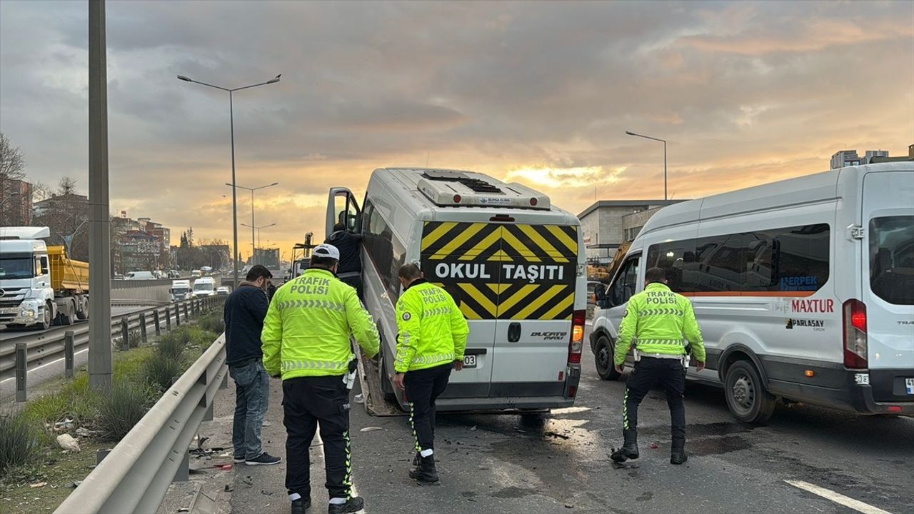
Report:
M 186 319 L 196 316 L 212 306 L 221 304 L 225 296 L 191 298 L 174 304 L 149 307 L 128 314 L 112 316 L 112 338 L 120 338 L 122 347 L 136 346 L 129 339 L 132 335 L 145 340 L 150 329 L 158 335 Z M 72 327 L 55 327 L 45 332 L 4 339 L 0 344 L 0 380 L 16 377 L 16 401 L 26 401 L 27 370 L 58 359 L 70 359 L 73 353 L 89 345 L 89 324 Z M 18 366 L 17 366 L 18 364 Z M 71 365 L 71 362 L 68 362 Z M 68 374 L 70 369 L 67 370 Z

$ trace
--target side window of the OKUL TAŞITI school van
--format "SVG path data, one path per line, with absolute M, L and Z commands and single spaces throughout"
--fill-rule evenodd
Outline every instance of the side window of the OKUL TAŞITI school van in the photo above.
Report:
M 369 259 L 377 268 L 381 282 L 388 290 L 391 302 L 399 299 L 399 267 L 406 261 L 406 245 L 390 230 L 388 223 L 375 209 L 371 200 L 365 204 L 362 222 L 362 244 Z

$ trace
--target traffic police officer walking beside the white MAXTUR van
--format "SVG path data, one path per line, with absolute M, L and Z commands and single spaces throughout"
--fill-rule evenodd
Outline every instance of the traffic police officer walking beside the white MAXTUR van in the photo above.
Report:
M 660 382 L 666 391 L 670 408 L 673 446 L 670 463 L 683 464 L 685 455 L 685 366 L 687 350 L 683 340 L 691 343 L 697 369 L 705 369 L 705 344 L 695 318 L 692 303 L 682 294 L 666 286 L 666 274 L 661 268 L 651 268 L 644 275 L 644 290 L 632 296 L 622 316 L 619 339 L 616 341 L 615 366 L 622 372 L 625 355 L 637 338 L 635 363 L 625 387 L 622 406 L 622 435 L 625 444 L 612 452 L 616 462 L 638 458 L 638 405 L 654 383 Z

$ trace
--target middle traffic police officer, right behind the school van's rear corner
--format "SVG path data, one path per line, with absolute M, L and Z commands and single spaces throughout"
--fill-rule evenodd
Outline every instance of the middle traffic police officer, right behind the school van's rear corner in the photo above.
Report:
M 463 369 L 463 351 L 470 326 L 453 298 L 422 278 L 419 266 L 399 269 L 403 294 L 397 302 L 397 358 L 394 383 L 406 390 L 409 421 L 416 438 L 416 469 L 409 477 L 438 481 L 435 469 L 435 400 L 448 386 L 451 368 Z

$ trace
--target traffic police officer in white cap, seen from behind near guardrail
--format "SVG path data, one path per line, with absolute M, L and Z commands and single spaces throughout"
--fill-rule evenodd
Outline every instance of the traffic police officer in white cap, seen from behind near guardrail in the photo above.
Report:
M 317 246 L 311 267 L 277 290 L 263 322 L 263 366 L 274 377 L 282 372 L 285 485 L 292 514 L 304 514 L 311 507 L 308 448 L 318 424 L 324 441 L 328 512 L 356 512 L 365 506 L 362 498 L 352 496 L 349 387 L 356 359 L 349 335 L 368 357 L 377 355 L 379 337 L 356 290 L 336 278 L 338 262 L 334 246 Z

